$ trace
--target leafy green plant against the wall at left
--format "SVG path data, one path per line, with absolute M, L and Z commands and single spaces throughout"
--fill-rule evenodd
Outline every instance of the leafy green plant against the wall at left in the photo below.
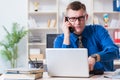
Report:
M 3 58 L 10 61 L 11 68 L 15 68 L 18 58 L 17 44 L 27 34 L 28 31 L 25 30 L 24 27 L 20 27 L 20 25 L 16 22 L 12 24 L 11 32 L 9 32 L 5 26 L 3 26 L 3 28 L 7 35 L 5 36 L 4 40 L 0 41 L 0 46 L 2 46 L 0 54 L 3 56 Z

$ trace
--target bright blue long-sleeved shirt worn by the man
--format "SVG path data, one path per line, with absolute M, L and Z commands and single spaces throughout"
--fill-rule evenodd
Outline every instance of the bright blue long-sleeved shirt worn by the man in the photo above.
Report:
M 70 45 L 63 44 L 64 34 L 54 40 L 54 48 L 78 48 L 78 35 L 70 34 Z M 86 25 L 82 32 L 82 43 L 88 49 L 88 56 L 99 54 L 100 61 L 94 70 L 114 71 L 113 60 L 119 57 L 119 48 L 114 44 L 108 31 L 101 25 Z

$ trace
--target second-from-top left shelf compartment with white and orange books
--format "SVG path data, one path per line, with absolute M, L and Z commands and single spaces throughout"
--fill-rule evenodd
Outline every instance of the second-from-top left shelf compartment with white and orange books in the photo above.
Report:
M 54 13 L 54 12 L 53 12 Z M 55 28 L 57 27 L 57 13 L 48 14 L 48 13 L 31 13 L 28 14 L 28 25 L 29 28 Z

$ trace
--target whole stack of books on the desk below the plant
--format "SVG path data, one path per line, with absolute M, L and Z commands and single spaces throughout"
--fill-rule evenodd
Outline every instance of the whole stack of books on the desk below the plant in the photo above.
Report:
M 43 68 L 13 68 L 7 69 L 6 73 L 2 75 L 4 80 L 35 80 L 42 78 L 44 69 Z

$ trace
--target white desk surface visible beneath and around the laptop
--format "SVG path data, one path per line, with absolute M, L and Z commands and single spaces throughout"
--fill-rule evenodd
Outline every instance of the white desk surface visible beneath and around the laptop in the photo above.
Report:
M 47 72 L 43 73 L 43 78 L 37 80 L 120 80 L 120 79 L 110 79 L 104 78 L 104 75 L 112 75 L 113 72 L 105 72 L 103 75 L 95 75 L 90 78 L 59 78 L 59 77 L 49 77 Z

